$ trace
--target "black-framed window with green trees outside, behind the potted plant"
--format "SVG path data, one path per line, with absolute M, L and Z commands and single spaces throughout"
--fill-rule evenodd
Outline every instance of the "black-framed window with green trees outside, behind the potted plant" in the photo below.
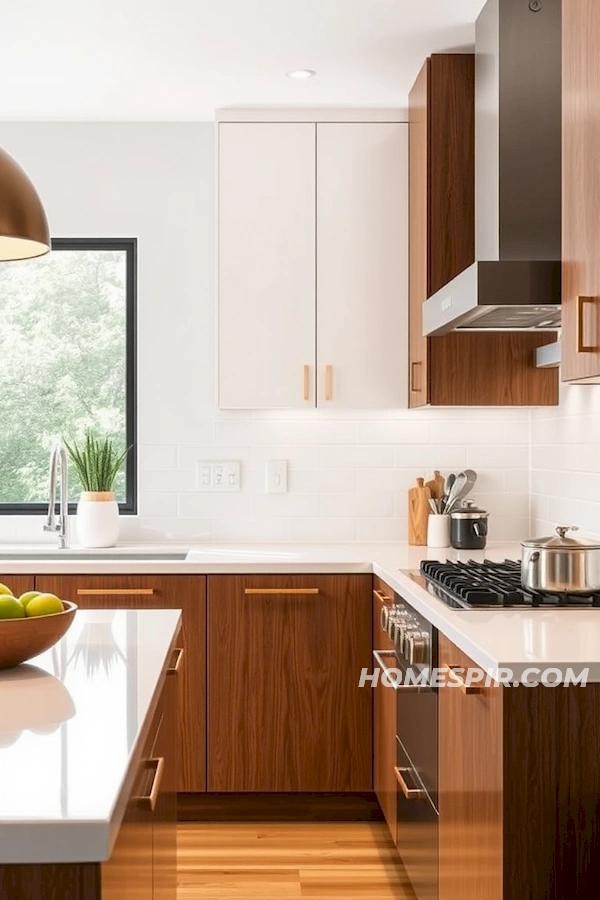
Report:
M 132 445 L 115 490 L 136 511 L 136 249 L 61 238 L 0 265 L 0 513 L 45 511 L 53 444 L 87 431 Z

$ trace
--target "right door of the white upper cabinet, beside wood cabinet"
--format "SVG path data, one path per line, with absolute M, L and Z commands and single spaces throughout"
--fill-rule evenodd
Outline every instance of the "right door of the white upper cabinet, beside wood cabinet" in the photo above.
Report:
M 407 396 L 408 126 L 317 125 L 317 403 Z

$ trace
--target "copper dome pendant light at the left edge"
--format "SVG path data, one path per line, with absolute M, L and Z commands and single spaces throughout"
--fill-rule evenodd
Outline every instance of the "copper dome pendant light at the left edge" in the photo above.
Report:
M 48 220 L 37 191 L 0 148 L 0 261 L 31 259 L 49 250 Z

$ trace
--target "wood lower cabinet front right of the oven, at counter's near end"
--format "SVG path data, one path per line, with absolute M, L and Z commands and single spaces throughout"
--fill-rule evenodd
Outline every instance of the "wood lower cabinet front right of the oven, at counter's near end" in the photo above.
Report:
M 468 668 L 443 635 L 439 665 Z M 524 688 L 523 690 L 527 690 Z M 502 900 L 502 691 L 439 692 L 440 900 Z M 527 890 L 525 890 L 525 894 Z

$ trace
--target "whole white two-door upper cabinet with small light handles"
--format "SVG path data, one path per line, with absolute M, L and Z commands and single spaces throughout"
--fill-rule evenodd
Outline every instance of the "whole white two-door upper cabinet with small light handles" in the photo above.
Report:
M 406 405 L 408 126 L 219 124 L 219 405 Z

